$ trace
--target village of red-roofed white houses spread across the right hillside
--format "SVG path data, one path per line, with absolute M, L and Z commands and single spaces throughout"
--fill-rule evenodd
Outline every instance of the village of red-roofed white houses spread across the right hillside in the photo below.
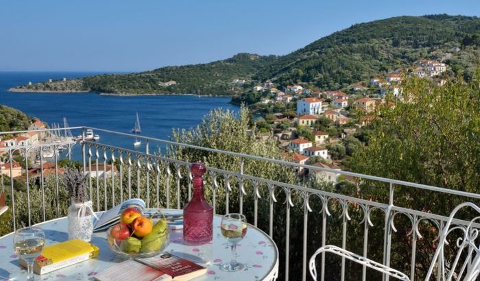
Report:
M 339 182 L 339 173 L 335 171 L 342 169 L 344 160 L 365 141 L 368 125 L 376 119 L 377 110 L 403 100 L 403 79 L 415 75 L 443 86 L 442 73 L 447 68 L 436 60 L 419 60 L 403 71 L 372 77 L 344 90 L 319 90 L 301 83 L 280 90 L 271 81 L 253 86 L 252 90 L 263 97 L 254 107 L 265 113 L 264 118 L 256 121 L 256 137 L 273 134 L 285 151 L 285 160 L 331 169 L 310 173 L 300 168 L 300 180 L 335 184 Z M 245 83 L 245 80 L 234 82 L 238 81 Z M 392 99 L 386 99 L 387 95 Z

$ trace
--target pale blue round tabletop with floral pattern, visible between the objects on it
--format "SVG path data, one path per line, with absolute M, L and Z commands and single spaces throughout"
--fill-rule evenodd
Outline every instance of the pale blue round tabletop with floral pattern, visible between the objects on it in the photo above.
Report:
M 181 210 L 166 210 L 181 212 Z M 206 245 L 189 246 L 182 241 L 182 230 L 171 230 L 170 244 L 165 251 L 186 258 L 208 268 L 206 275 L 198 280 L 274 280 L 278 273 L 278 249 L 265 232 L 248 225 L 245 238 L 237 245 L 237 260 L 245 269 L 225 272 L 220 269 L 223 262 L 230 260 L 231 251 L 226 239 L 220 233 L 221 216 L 213 218 L 213 241 Z M 46 245 L 67 240 L 67 218 L 55 219 L 38 224 L 45 230 Z M 53 271 L 35 280 L 95 280 L 94 276 L 123 258 L 116 256 L 108 247 L 106 232 L 95 232 L 91 243 L 100 249 L 99 256 L 92 260 Z M 0 238 L 0 281 L 26 280 L 27 271 L 19 265 L 19 258 L 13 251 L 13 234 Z

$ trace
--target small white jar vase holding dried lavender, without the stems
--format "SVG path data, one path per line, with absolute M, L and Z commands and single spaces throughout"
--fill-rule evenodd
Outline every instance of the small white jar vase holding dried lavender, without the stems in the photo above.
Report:
M 67 220 L 69 222 L 69 240 L 82 239 L 90 242 L 93 235 L 92 201 L 71 202 Z

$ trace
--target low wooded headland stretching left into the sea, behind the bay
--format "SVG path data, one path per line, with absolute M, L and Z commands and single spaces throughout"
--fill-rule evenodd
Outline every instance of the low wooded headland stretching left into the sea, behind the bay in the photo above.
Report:
M 232 87 L 234 79 L 250 79 L 261 68 L 276 60 L 276 56 L 258 56 L 239 53 L 226 60 L 208 64 L 167 66 L 153 71 L 131 74 L 94 75 L 79 80 L 43 82 L 19 86 L 12 92 L 91 91 L 119 95 L 135 94 L 195 94 L 233 95 L 239 87 Z M 163 86 L 163 82 L 176 81 L 176 85 Z

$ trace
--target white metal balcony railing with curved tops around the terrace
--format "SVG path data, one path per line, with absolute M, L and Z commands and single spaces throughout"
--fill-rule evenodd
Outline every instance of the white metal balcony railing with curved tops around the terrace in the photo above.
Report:
M 101 134 L 102 138 L 99 141 L 86 140 L 86 130 L 88 129 Z M 51 133 L 59 130 L 65 132 L 77 130 L 81 132 L 82 137 L 77 140 L 47 137 L 55 135 Z M 27 132 L 32 131 L 1 132 L 0 137 Z M 448 200 L 457 198 L 459 201 L 478 201 L 480 199 L 480 195 L 476 193 L 324 169 L 92 127 L 57 128 L 34 132 L 40 139 L 38 143 L 0 148 L 0 159 L 5 163 L 3 164 L 5 169 L 1 171 L 5 182 L 8 181 L 10 175 L 14 176 L 14 170 L 17 168 L 12 163 L 14 160 L 19 160 L 19 157 L 25 162 L 23 171 L 30 170 L 30 172 L 23 172 L 20 177 L 22 179 L 20 182 L 25 182 L 25 186 L 19 184 L 19 178 L 13 177 L 10 178 L 10 186 L 6 184 L 5 193 L 7 193 L 7 202 L 12 213 L 12 230 L 22 225 L 39 223 L 65 214 L 65 204 L 68 202 L 67 199 L 64 200 L 65 202 L 61 199 L 64 196 L 62 195 L 64 186 L 62 186 L 60 177 L 62 172 L 59 164 L 60 158 L 66 158 L 69 161 L 80 160 L 81 169 L 89 175 L 88 192 L 97 210 L 111 208 L 119 201 L 133 195 L 142 197 L 150 208 L 182 208 L 183 204 L 191 197 L 190 163 L 173 157 L 173 154 L 168 151 L 180 148 L 203 151 L 205 154 L 225 156 L 238 163 L 236 171 L 229 171 L 225 167 L 207 166 L 207 198 L 211 201 L 214 212 L 224 213 L 230 210 L 245 212 L 248 214 L 250 223 L 263 228 L 269 236 L 272 236 L 280 250 L 280 258 L 282 258 L 280 276 L 285 277 L 285 280 L 288 280 L 289 277 L 297 280 L 300 276 L 302 276 L 302 280 L 309 279 L 307 269 L 309 255 L 313 254 L 318 247 L 331 241 L 337 242 L 343 249 L 352 250 L 352 247 L 356 247 L 353 252 L 357 252 L 363 257 L 377 258 L 377 261 L 385 266 L 390 266 L 392 262 L 395 265 L 402 265 L 404 273 L 411 280 L 417 280 L 419 277 L 416 275 L 423 272 L 420 258 L 425 259 L 423 263 L 429 265 L 431 256 L 435 253 L 435 247 L 431 247 L 435 244 L 435 235 L 442 230 L 448 219 L 448 213 L 451 211 L 451 209 L 445 210 L 444 214 L 431 213 L 427 204 L 428 197 L 437 198 L 435 194 L 440 194 L 446 196 Z M 112 138 L 122 138 L 123 140 L 139 138 L 144 147 L 142 151 L 137 151 L 108 145 L 103 140 L 103 136 L 107 134 Z M 153 153 L 151 150 L 154 144 L 157 144 L 158 147 Z M 64 149 L 64 156 L 57 153 L 61 149 Z M 46 157 L 49 155 L 44 152 L 52 150 L 53 157 L 47 159 Z M 33 173 L 31 167 L 28 167 L 30 162 L 28 159 L 35 156 L 38 156 L 39 163 L 36 164 L 36 173 Z M 51 162 L 51 164 L 48 166 L 45 165 L 45 162 Z M 385 190 L 385 200 L 379 197 L 364 197 L 361 193 L 358 193 L 359 196 L 351 196 L 335 190 L 309 188 L 305 186 L 306 182 L 291 184 L 275 178 L 261 178 L 255 174 L 244 173 L 244 167 L 252 163 L 272 164 L 276 165 L 278 169 L 285 169 L 285 171 L 309 169 L 310 171 L 339 173 L 358 179 L 361 185 L 370 184 L 377 190 Z M 49 178 L 53 182 L 49 181 Z M 50 186 L 51 189 L 47 186 Z M 410 191 L 407 198 L 403 195 L 405 188 Z M 49 193 L 50 191 L 53 194 Z M 40 194 L 40 199 L 31 198 L 31 193 L 34 192 Z M 408 203 L 417 199 L 411 198 L 411 194 L 415 193 L 421 193 L 422 197 L 427 196 L 427 206 L 405 207 L 405 201 Z M 19 202 L 22 197 L 16 198 L 23 194 L 26 194 L 27 206 L 22 206 L 22 202 Z M 433 202 L 431 203 L 433 204 Z M 51 210 L 52 208 L 53 210 Z M 403 219 L 398 218 L 402 215 Z M 291 220 L 292 216 L 293 220 Z M 298 219 L 299 217 L 301 219 Z M 394 221 L 396 222 L 394 223 Z M 332 225 L 333 223 L 338 225 Z M 468 221 L 455 220 L 454 224 L 467 225 Z M 291 228 L 292 225 L 294 225 L 293 228 Z M 402 226 L 402 230 L 407 229 L 400 231 L 401 237 L 395 235 L 397 229 L 400 230 L 398 225 Z M 293 236 L 293 240 L 291 236 Z M 394 238 L 396 239 L 392 241 Z M 372 245 L 378 245 L 381 249 L 372 249 Z M 393 250 L 392 245 L 395 246 Z M 422 245 L 421 248 L 420 245 Z M 403 249 L 409 249 L 409 251 L 405 253 Z M 420 256 L 420 252 L 422 256 Z M 320 266 L 318 266 L 320 280 L 325 280 L 326 276 L 327 278 L 330 276 L 330 267 L 333 265 L 339 267 L 337 276 L 341 280 L 346 278 L 347 271 L 350 272 L 350 270 L 357 270 L 361 273 L 361 278 L 354 276 L 355 280 L 382 278 L 374 275 L 370 277 L 374 273 L 371 273 L 365 265 L 357 269 L 353 266 L 350 268 L 350 264 L 345 258 L 326 260 L 326 256 L 322 254 L 322 257 L 317 260 L 320 262 Z M 446 264 L 448 266 L 448 262 Z M 326 271 L 326 265 L 328 265 L 329 271 Z M 438 270 L 440 272 L 440 267 Z M 383 279 L 387 280 L 388 276 L 383 276 Z M 440 280 L 440 275 L 438 280 Z

